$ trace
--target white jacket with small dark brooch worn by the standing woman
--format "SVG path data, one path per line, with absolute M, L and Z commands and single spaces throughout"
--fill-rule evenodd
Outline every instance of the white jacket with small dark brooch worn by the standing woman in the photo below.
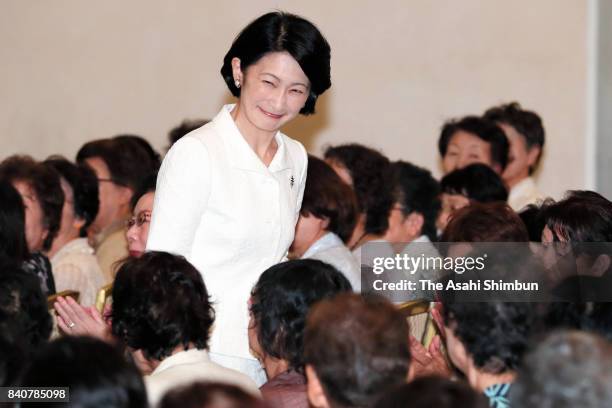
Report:
M 278 132 L 266 167 L 226 105 L 170 149 L 157 178 L 148 250 L 183 255 L 202 274 L 216 312 L 210 351 L 254 357 L 247 301 L 259 275 L 285 259 L 304 194 L 307 155 Z

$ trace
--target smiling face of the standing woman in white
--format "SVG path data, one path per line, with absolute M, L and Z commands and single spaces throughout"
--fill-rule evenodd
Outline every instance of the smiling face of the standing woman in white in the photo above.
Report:
M 310 81 L 297 61 L 286 52 L 272 52 L 246 70 L 232 60 L 240 99 L 232 116 L 245 135 L 276 133 L 299 113 L 310 92 Z

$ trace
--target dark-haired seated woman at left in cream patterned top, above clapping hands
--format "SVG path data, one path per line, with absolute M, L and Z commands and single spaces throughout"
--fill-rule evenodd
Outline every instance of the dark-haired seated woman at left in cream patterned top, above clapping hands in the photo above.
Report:
M 51 157 L 43 164 L 60 175 L 65 198 L 60 228 L 46 253 L 53 267 L 55 289 L 76 290 L 79 302 L 92 306 L 98 290 L 109 283 L 87 242 L 87 228 L 98 213 L 98 180 L 89 167 L 76 166 L 63 157 Z

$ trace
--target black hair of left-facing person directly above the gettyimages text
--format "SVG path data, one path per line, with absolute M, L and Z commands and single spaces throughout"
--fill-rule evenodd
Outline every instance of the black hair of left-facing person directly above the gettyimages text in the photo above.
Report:
M 391 163 L 393 199 L 406 217 L 415 212 L 423 216 L 421 233 L 436 239 L 436 219 L 440 213 L 440 184 L 431 172 L 405 161 Z

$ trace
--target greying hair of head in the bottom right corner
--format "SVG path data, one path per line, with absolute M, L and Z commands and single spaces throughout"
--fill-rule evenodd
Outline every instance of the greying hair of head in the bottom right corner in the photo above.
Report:
M 550 334 L 530 351 L 510 391 L 512 406 L 612 406 L 612 345 L 580 331 Z

